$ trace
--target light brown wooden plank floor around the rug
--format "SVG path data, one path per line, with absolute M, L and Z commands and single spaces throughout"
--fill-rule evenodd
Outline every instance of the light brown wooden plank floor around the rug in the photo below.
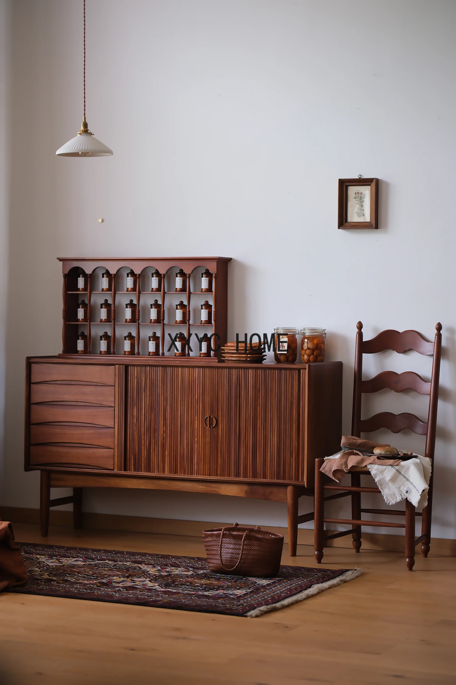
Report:
M 40 542 L 35 525 L 16 539 Z M 51 527 L 57 545 L 204 556 L 200 538 Z M 456 558 L 325 551 L 364 575 L 258 619 L 0 595 L 0 685 L 456 684 Z M 282 562 L 314 566 L 298 546 Z

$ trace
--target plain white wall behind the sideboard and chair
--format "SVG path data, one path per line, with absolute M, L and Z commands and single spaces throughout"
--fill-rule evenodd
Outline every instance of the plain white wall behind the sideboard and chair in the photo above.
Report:
M 23 369 L 61 350 L 56 257 L 221 255 L 233 258 L 230 337 L 327 328 L 345 432 L 358 319 L 366 337 L 433 336 L 442 321 L 433 533 L 456 537 L 455 3 L 88 0 L 88 123 L 114 155 L 61 159 L 81 122 L 81 5 L 12 3 L 1 501 L 38 506 L 38 474 L 23 473 Z M 337 230 L 337 179 L 358 174 L 381 179 L 378 231 Z M 85 508 L 286 521 L 280 503 L 178 493 L 94 491 Z

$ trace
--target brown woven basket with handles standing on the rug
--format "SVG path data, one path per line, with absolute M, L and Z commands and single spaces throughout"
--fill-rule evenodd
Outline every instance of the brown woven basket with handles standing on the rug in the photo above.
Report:
M 202 532 L 207 563 L 213 573 L 230 573 L 258 578 L 277 575 L 284 537 L 269 530 L 247 528 L 234 523 Z

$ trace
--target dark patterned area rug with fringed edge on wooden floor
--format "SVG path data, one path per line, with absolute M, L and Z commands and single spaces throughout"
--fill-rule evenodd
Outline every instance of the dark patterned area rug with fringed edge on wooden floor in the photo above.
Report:
M 280 566 L 277 577 L 246 578 L 211 573 L 200 557 L 33 543 L 20 547 L 29 581 L 12 593 L 232 616 L 261 616 L 362 573 Z

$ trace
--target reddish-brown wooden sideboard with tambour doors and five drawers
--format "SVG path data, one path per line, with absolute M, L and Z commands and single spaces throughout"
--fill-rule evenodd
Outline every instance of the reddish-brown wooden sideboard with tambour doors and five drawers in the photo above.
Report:
M 295 555 L 314 460 L 340 447 L 342 362 L 223 364 L 109 356 L 27 358 L 25 470 L 49 507 L 82 488 L 148 488 L 288 503 Z M 73 495 L 50 499 L 50 488 Z

